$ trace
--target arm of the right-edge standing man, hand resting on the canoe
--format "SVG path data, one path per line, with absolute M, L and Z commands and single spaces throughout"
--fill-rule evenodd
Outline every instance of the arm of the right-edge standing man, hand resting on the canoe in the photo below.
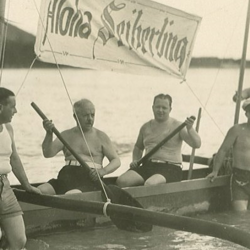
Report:
M 214 179 L 217 177 L 218 172 L 223 164 L 224 158 L 227 154 L 227 152 L 230 150 L 231 147 L 233 147 L 235 140 L 237 139 L 238 135 L 238 126 L 234 126 L 229 129 L 227 132 L 227 135 L 221 144 L 214 160 L 214 167 L 211 174 L 207 176 L 207 178 L 211 179 L 211 182 L 214 181 Z

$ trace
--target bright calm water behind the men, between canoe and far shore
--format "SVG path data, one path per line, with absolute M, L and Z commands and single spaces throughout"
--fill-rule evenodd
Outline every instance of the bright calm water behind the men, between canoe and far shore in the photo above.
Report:
M 113 175 L 128 169 L 132 149 L 140 126 L 152 119 L 153 97 L 168 93 L 173 98 L 171 116 L 184 121 L 202 108 L 199 134 L 202 146 L 196 155 L 215 153 L 234 122 L 239 70 L 236 68 L 191 68 L 186 81 L 166 76 L 138 76 L 93 70 L 9 69 L 3 72 L 2 86 L 17 94 L 18 113 L 13 117 L 17 150 L 31 182 L 55 177 L 64 165 L 64 157 L 42 156 L 41 143 L 45 131 L 42 120 L 31 107 L 35 102 L 53 120 L 59 131 L 75 125 L 72 103 L 90 99 L 96 106 L 95 127 L 106 132 L 113 141 L 122 166 Z M 250 87 L 250 70 L 245 71 L 245 87 Z M 240 121 L 245 121 L 241 110 Z M 183 153 L 191 153 L 183 144 Z M 10 176 L 12 183 L 17 183 Z

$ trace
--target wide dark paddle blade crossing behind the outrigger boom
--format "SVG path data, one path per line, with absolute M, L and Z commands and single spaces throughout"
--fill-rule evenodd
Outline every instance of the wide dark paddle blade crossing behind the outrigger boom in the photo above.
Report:
M 108 185 L 105 187 L 111 202 L 130 207 L 143 208 L 143 206 L 128 192 L 115 185 Z M 132 231 L 132 232 L 148 232 L 151 231 L 153 226 L 147 223 L 136 221 L 136 215 L 132 213 L 126 214 L 121 217 L 119 211 L 117 213 L 109 214 L 111 221 L 117 228 Z

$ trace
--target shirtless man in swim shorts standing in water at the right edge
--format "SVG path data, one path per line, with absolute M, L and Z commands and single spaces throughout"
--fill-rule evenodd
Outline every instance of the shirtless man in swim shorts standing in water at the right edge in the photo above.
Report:
M 213 182 L 218 175 L 226 153 L 233 148 L 233 173 L 231 176 L 231 199 L 235 211 L 247 211 L 250 195 L 250 100 L 242 105 L 247 122 L 229 129 L 215 157 L 214 169 L 207 176 Z

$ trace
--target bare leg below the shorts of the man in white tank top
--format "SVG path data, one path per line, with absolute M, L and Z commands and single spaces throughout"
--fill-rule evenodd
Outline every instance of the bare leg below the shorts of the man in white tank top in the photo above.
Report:
M 8 241 L 8 250 L 24 248 L 27 239 L 22 215 L 2 219 L 1 227 Z

